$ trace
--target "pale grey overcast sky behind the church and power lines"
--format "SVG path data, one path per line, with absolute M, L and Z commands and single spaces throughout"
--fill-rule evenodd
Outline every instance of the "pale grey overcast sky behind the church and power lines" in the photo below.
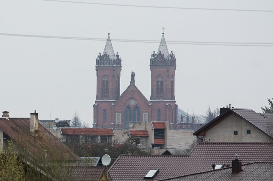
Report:
M 76 0 L 74 0 L 76 1 Z M 91 1 L 121 5 L 182 8 L 273 10 L 273 1 Z M 231 104 L 261 112 L 273 97 L 273 12 L 148 8 L 40 0 L 0 0 L 0 33 L 102 38 L 71 40 L 0 35 L 0 110 L 10 117 L 40 120 L 93 120 L 96 55 L 110 27 L 122 59 L 121 93 L 134 65 L 136 86 L 150 99 L 150 56 L 157 52 L 162 27 L 176 57 L 175 98 L 184 111 L 204 114 Z M 118 42 L 155 40 L 155 43 Z M 171 44 L 168 41 L 179 41 Z M 192 45 L 187 42 L 221 42 Z M 271 43 L 227 46 L 224 43 Z M 234 45 L 234 44 L 231 44 Z M 255 44 L 244 44 L 255 45 Z M 257 44 L 256 44 L 257 45 Z

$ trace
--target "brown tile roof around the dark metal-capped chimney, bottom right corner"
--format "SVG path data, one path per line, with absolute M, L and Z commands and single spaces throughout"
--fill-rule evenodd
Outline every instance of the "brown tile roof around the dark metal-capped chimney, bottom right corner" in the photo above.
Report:
M 232 173 L 232 167 L 210 170 L 201 173 L 190 174 L 171 179 L 163 179 L 169 181 L 269 181 L 273 178 L 273 163 L 272 162 L 254 162 L 242 165 L 242 170 L 239 173 Z

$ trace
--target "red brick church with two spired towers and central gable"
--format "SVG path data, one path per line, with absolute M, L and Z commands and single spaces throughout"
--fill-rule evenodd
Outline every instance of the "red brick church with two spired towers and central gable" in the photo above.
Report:
M 130 85 L 121 94 L 121 58 L 114 52 L 110 36 L 103 53 L 96 58 L 97 94 L 94 107 L 93 127 L 129 129 L 130 123 L 167 121 L 177 127 L 175 104 L 176 59 L 169 53 L 164 33 L 157 53 L 150 58 L 151 96 L 148 100 L 137 88 L 134 70 Z

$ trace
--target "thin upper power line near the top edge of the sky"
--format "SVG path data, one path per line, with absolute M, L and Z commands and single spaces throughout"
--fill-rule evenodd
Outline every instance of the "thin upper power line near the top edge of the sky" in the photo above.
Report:
M 38 0 L 38 1 L 53 1 L 53 2 L 64 2 L 64 3 L 81 3 L 81 4 L 95 4 L 95 5 L 126 6 L 126 7 L 139 7 L 139 8 L 164 8 L 164 9 L 185 9 L 185 10 L 217 10 L 217 11 L 273 12 L 273 10 L 242 10 L 242 9 L 216 9 L 216 8 L 183 8 L 183 7 L 167 7 L 167 6 L 147 6 L 147 5 L 109 4 L 109 3 L 89 3 L 89 2 L 59 1 L 59 0 Z

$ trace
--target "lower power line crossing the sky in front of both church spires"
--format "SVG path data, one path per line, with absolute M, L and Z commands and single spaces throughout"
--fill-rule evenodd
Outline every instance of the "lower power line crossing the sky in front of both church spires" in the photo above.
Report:
M 105 38 L 85 38 L 85 37 L 70 37 L 70 36 L 41 36 L 41 35 L 26 35 L 26 34 L 8 34 L 0 33 L 2 36 L 22 36 L 33 38 L 53 38 L 53 39 L 70 39 L 70 40 L 93 40 L 106 41 Z M 130 39 L 112 39 L 117 42 L 130 43 L 159 43 L 158 40 L 130 40 Z M 166 41 L 168 44 L 182 44 L 182 45 L 220 45 L 220 46 L 251 46 L 251 47 L 273 47 L 273 43 L 239 43 L 239 42 L 200 42 L 200 41 Z

